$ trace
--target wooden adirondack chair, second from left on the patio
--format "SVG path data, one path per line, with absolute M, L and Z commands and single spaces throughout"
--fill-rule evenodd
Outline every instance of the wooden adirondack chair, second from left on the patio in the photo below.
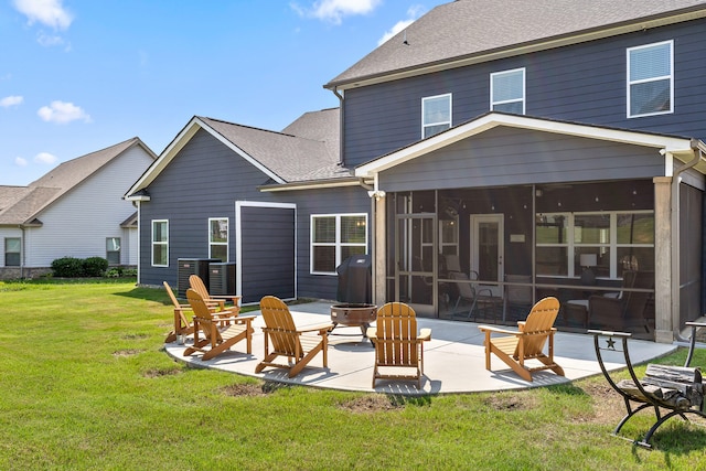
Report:
M 249 317 L 223 318 L 213 312 L 195 290 L 186 290 L 186 299 L 194 311 L 194 344 L 184 350 L 184 356 L 203 352 L 201 360 L 210 360 L 231 349 L 242 340 L 247 343 L 247 353 L 253 353 L 253 319 Z M 224 323 L 224 321 L 227 321 Z M 200 339 L 199 333 L 204 338 Z

